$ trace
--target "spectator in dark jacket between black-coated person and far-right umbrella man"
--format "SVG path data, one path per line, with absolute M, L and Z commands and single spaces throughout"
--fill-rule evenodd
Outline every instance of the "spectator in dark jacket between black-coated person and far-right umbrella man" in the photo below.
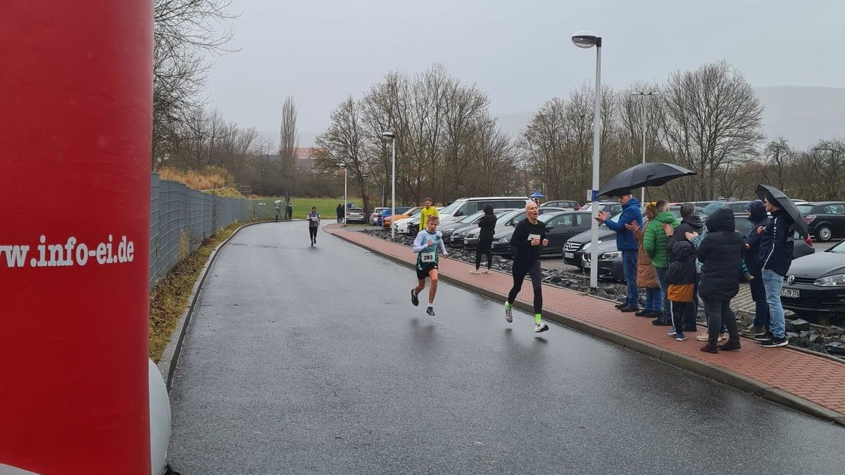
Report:
M 769 304 L 766 303 L 766 286 L 763 284 L 763 267 L 760 264 L 760 239 L 763 235 L 757 232 L 759 227 L 769 226 L 769 216 L 766 215 L 766 205 L 760 199 L 745 205 L 745 212 L 748 221 L 751 221 L 751 229 L 745 237 L 744 260 L 750 275 L 754 277 L 748 285 L 755 312 L 754 322 L 739 333 L 754 337 L 766 335 L 769 330 Z

